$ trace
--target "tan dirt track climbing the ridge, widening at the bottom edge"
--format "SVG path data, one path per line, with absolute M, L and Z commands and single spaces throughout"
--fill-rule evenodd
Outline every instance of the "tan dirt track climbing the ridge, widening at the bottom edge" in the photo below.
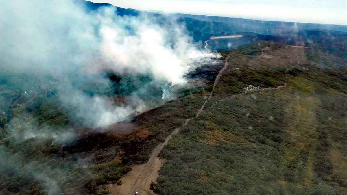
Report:
M 210 96 L 208 99 L 205 100 L 202 107 L 197 111 L 196 116 L 192 119 L 197 118 L 200 113 L 204 110 L 206 103 L 211 99 L 212 94 L 214 92 L 215 87 L 217 86 L 217 83 L 219 82 L 219 79 L 225 71 L 225 69 L 228 67 L 228 60 L 225 59 L 225 65 L 224 67 L 219 71 L 216 79 L 214 80 L 213 88 L 210 93 Z M 187 119 L 183 125 L 186 126 L 191 119 Z M 159 170 L 161 166 L 163 165 L 163 161 L 158 158 L 158 154 L 161 152 L 164 146 L 166 146 L 171 139 L 172 135 L 175 135 L 179 132 L 180 128 L 176 128 L 174 132 L 172 132 L 168 137 L 166 137 L 165 141 L 163 143 L 160 143 L 158 146 L 156 146 L 151 155 L 150 159 L 144 163 L 144 164 L 138 164 L 132 167 L 132 170 L 129 171 L 126 175 L 124 175 L 120 180 L 122 180 L 122 185 L 109 185 L 110 194 L 111 195 L 134 195 L 135 192 L 139 192 L 139 194 L 147 194 L 148 192 L 152 191 L 149 189 L 151 181 L 156 181 L 156 179 L 159 176 Z

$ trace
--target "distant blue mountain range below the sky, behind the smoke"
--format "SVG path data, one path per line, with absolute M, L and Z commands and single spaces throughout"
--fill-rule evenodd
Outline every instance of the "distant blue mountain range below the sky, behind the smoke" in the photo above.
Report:
M 76 1 L 85 6 L 87 11 L 113 6 L 108 3 Z M 201 43 L 201 47 L 204 46 L 204 41 L 210 40 L 211 36 L 242 35 L 242 37 L 233 39 L 210 40 L 209 48 L 211 50 L 236 48 L 257 40 L 306 46 L 313 43 L 323 44 L 323 47 L 329 50 L 331 45 L 346 44 L 347 39 L 347 25 L 274 22 L 189 14 L 163 15 L 136 9 L 116 8 L 117 14 L 120 16 L 138 16 L 146 13 L 158 19 L 159 23 L 175 19 L 177 23 L 185 24 L 188 34 L 193 37 L 196 43 Z M 325 43 L 328 45 L 324 45 Z

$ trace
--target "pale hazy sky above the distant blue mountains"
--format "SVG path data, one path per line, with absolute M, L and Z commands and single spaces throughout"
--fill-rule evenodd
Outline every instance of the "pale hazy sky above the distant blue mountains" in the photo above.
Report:
M 167 13 L 347 25 L 346 0 L 91 0 Z

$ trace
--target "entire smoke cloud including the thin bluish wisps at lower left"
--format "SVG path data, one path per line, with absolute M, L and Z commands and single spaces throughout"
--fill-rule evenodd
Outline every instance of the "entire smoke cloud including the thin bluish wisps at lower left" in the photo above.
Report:
M 30 112 L 35 112 L 35 101 L 53 94 L 57 101 L 50 101 L 57 107 L 73 110 L 70 118 L 83 126 L 102 127 L 174 98 L 173 89 L 187 82 L 184 75 L 213 56 L 196 49 L 184 27 L 174 20 L 156 21 L 152 15 L 120 17 L 111 7 L 90 11 L 70 0 L 1 2 L 0 84 L 16 86 L 9 92 L 20 97 L 0 93 L 0 124 L 10 117 L 6 107 L 14 101 L 19 105 L 11 108 L 13 116 L 5 130 L 0 129 L 0 141 L 42 138 L 53 145 L 74 139 L 71 127 L 42 124 L 33 114 L 22 113 L 24 99 L 32 104 Z M 121 80 L 118 88 L 123 94 L 116 95 L 124 101 L 115 103 L 114 83 L 105 76 L 110 72 L 146 82 L 130 87 L 127 79 Z M 42 168 L 39 164 L 44 160 L 23 167 L 20 162 L 25 161 L 20 158 L 25 153 L 11 153 L 0 145 L 0 172 L 24 170 L 27 178 L 44 183 L 49 194 L 60 192 L 52 178 L 62 178 L 63 173 L 54 175 L 49 163 Z

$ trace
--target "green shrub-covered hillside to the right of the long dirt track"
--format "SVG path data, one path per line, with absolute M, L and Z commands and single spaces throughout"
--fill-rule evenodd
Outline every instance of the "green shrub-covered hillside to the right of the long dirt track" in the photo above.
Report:
M 201 116 L 164 148 L 155 191 L 346 194 L 345 59 L 318 49 L 259 42 L 222 52 L 229 67 Z

